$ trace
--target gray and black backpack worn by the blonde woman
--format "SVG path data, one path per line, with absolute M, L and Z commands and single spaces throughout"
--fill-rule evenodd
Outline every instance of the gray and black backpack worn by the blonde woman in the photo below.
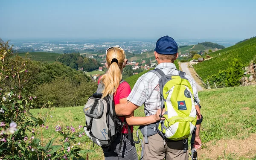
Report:
M 123 82 L 120 81 L 120 84 Z M 100 83 L 96 93 L 89 97 L 84 106 L 86 135 L 99 146 L 108 147 L 121 133 L 125 122 L 116 116 L 113 95 L 102 97 L 103 86 Z M 128 127 L 129 128 L 129 127 Z

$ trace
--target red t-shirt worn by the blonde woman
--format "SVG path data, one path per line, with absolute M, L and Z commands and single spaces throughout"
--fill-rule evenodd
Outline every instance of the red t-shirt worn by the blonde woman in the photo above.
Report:
M 98 84 L 99 84 L 100 78 L 98 80 Z M 127 98 L 130 93 L 131 93 L 130 85 L 126 81 L 122 82 L 118 86 L 118 88 L 116 90 L 116 94 L 114 94 L 114 96 L 113 96 L 115 105 L 120 103 L 120 99 Z M 124 116 L 118 116 L 118 117 L 122 120 L 122 122 L 124 122 L 124 120 L 125 120 Z M 131 133 L 132 132 L 133 132 L 133 126 L 131 126 Z M 122 128 L 122 133 L 128 134 L 128 126 L 125 126 Z

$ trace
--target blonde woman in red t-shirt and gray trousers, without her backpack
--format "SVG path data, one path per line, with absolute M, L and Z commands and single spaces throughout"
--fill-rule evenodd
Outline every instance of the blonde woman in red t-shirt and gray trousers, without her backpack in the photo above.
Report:
M 104 85 L 102 98 L 108 94 L 113 95 L 115 105 L 126 103 L 127 97 L 131 92 L 130 85 L 122 80 L 122 70 L 125 67 L 127 59 L 125 59 L 125 51 L 121 47 L 110 47 L 106 50 L 106 66 L 108 71 L 100 77 L 98 84 Z M 158 111 L 159 112 L 159 111 Z M 158 113 L 157 112 L 157 113 Z M 155 116 L 155 115 L 152 115 Z M 159 113 L 158 115 L 159 116 Z M 122 122 L 125 117 L 119 117 Z M 134 117 L 134 113 L 127 116 L 129 124 L 136 122 L 136 125 L 146 125 L 152 123 L 151 120 L 144 119 L 145 117 Z M 137 122 L 139 120 L 140 122 Z M 138 160 L 137 151 L 133 143 L 133 138 L 128 140 L 128 127 L 133 132 L 133 126 L 125 126 L 122 128 L 122 134 L 108 148 L 103 148 L 105 160 Z M 122 139 L 122 143 L 120 140 Z M 121 145 L 121 149 L 119 146 Z

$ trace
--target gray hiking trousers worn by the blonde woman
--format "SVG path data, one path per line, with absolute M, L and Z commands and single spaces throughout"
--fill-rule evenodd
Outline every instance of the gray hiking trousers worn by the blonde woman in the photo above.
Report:
M 120 139 L 122 146 L 119 151 Z M 127 134 L 119 135 L 108 148 L 103 148 L 105 160 L 138 160 L 137 151 L 133 143 L 133 138 L 128 140 Z

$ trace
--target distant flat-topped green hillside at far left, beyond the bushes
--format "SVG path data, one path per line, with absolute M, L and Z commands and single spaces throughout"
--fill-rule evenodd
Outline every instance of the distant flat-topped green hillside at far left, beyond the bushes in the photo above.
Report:
M 18 55 L 25 57 L 26 53 L 19 53 Z M 29 52 L 29 55 L 27 55 L 27 57 L 31 58 L 33 61 L 53 63 L 59 55 L 61 54 L 49 52 Z

